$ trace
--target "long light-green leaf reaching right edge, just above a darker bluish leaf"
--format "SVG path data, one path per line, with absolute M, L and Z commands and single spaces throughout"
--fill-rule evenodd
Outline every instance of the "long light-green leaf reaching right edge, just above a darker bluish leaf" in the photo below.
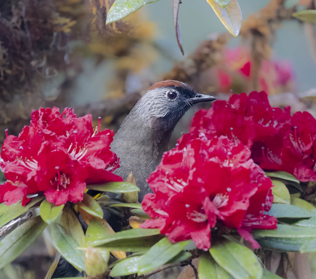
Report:
M 278 224 L 275 230 L 252 230 L 254 238 L 308 238 L 316 237 L 316 229 L 297 225 Z

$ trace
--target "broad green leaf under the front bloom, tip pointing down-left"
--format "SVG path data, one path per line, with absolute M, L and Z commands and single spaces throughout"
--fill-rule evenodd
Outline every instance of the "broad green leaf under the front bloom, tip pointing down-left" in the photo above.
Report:
M 138 275 L 157 269 L 177 256 L 191 240 L 172 244 L 168 238 L 162 238 L 151 247 L 138 263 Z

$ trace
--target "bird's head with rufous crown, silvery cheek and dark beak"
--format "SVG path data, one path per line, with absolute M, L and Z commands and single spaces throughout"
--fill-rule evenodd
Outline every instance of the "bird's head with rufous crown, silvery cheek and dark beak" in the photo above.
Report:
M 150 86 L 137 106 L 140 105 L 143 113 L 151 117 L 164 118 L 176 124 L 194 104 L 216 99 L 215 96 L 195 92 L 184 82 L 164 80 Z

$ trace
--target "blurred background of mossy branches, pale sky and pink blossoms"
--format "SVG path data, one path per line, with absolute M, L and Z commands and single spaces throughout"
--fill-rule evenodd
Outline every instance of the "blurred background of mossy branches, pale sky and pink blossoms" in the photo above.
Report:
M 316 116 L 315 26 L 292 17 L 315 9 L 316 1 L 238 2 L 243 23 L 234 38 L 205 0 L 183 0 L 182 55 L 170 0 L 108 25 L 111 0 L 0 1 L 0 140 L 5 129 L 17 135 L 40 106 L 74 107 L 116 131 L 146 89 L 163 79 L 222 99 L 231 90 L 264 90 L 271 105 Z M 177 125 L 171 147 L 197 109 Z M 44 278 L 55 252 L 45 241 L 44 234 L 0 278 Z

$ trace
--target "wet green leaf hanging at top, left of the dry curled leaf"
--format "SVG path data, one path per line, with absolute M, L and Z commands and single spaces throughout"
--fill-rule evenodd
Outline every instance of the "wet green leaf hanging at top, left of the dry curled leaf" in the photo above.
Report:
M 121 20 L 144 5 L 157 1 L 159 0 L 115 0 L 106 15 L 106 24 Z

